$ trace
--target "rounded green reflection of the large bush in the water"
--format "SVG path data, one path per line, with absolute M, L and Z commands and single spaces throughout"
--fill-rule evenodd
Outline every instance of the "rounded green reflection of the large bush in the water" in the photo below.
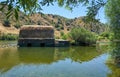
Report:
M 84 62 L 90 61 L 99 55 L 100 53 L 98 53 L 94 47 L 77 47 L 72 50 L 70 58 L 72 58 L 73 61 Z

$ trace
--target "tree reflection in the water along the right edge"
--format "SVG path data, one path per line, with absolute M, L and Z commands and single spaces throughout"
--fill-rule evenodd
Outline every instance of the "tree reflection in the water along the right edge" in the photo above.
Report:
M 120 42 L 112 43 L 111 47 L 111 58 L 107 63 L 111 73 L 108 77 L 120 77 Z

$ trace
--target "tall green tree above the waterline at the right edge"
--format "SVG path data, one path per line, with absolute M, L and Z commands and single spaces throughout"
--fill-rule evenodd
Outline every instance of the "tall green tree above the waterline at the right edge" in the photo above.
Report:
M 120 39 L 120 0 L 108 0 L 105 13 L 114 32 L 114 39 Z

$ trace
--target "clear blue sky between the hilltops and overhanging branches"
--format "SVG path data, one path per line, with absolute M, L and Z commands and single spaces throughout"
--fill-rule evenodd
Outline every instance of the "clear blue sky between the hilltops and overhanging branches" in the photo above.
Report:
M 81 17 L 81 16 L 86 16 L 86 7 L 79 5 L 78 7 L 73 8 L 73 11 L 67 10 L 64 7 L 59 7 L 57 5 L 57 3 L 50 6 L 42 6 L 42 13 L 45 14 L 55 14 L 55 15 L 60 15 L 66 18 L 75 18 L 75 17 Z M 96 18 L 100 19 L 100 21 L 102 23 L 106 23 L 106 18 L 105 18 L 105 14 L 104 14 L 104 8 L 101 8 L 98 15 L 96 16 Z

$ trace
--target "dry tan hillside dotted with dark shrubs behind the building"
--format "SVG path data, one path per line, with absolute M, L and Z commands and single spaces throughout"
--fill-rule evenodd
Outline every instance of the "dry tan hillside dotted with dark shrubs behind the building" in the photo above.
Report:
M 84 27 L 90 31 L 101 33 L 104 31 L 104 24 L 98 22 L 85 22 L 85 17 L 68 19 L 58 15 L 43 14 L 41 12 L 32 15 L 19 13 L 19 21 L 15 18 L 5 19 L 4 13 L 0 12 L 0 33 L 19 33 L 22 25 L 52 25 L 55 27 L 55 34 L 60 36 L 60 32 L 68 33 L 74 27 Z M 6 26 L 7 24 L 8 26 Z

